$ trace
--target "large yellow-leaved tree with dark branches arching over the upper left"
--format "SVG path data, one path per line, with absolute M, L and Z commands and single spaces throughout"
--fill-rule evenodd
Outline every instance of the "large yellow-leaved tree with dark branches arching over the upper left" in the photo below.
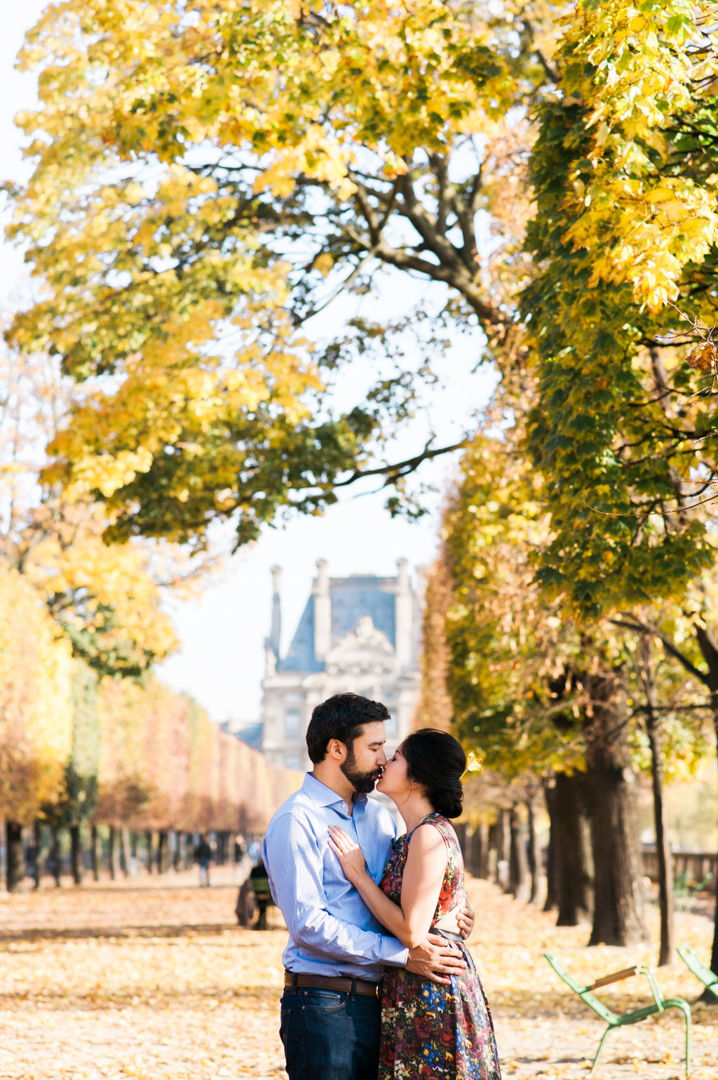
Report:
M 510 217 L 520 112 L 556 78 L 552 21 L 468 0 L 49 9 L 22 55 L 42 104 L 21 117 L 35 173 L 10 230 L 48 295 L 10 337 L 87 392 L 48 475 L 104 500 L 112 538 L 201 544 L 233 517 L 241 543 L 283 505 L 320 510 L 407 393 L 401 374 L 334 416 L 325 379 L 405 321 L 323 355 L 299 335 L 377 267 L 436 283 L 447 319 L 513 355 L 477 214 Z M 507 261 L 513 285 L 527 262 Z

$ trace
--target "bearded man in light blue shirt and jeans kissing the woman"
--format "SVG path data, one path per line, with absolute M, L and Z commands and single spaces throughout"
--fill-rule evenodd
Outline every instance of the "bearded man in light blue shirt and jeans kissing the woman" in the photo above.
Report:
M 340 825 L 379 880 L 396 826 L 367 795 L 387 764 L 387 719 L 384 705 L 356 693 L 317 705 L 307 730 L 313 771 L 265 837 L 272 896 L 289 931 L 280 1027 L 289 1080 L 376 1080 L 385 964 L 442 983 L 463 971 L 442 937 L 430 934 L 407 950 L 389 936 L 327 842 L 329 825 Z

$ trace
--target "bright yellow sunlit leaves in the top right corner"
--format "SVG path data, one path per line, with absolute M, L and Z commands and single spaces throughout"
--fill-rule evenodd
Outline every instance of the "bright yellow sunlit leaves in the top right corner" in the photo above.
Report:
M 628 282 L 651 311 L 676 299 L 686 264 L 718 238 L 718 174 L 666 175 L 664 131 L 700 108 L 696 87 L 712 93 L 718 68 L 701 26 L 717 14 L 715 3 L 613 0 L 579 2 L 565 21 L 561 89 L 591 138 L 565 239 L 591 252 L 590 286 Z

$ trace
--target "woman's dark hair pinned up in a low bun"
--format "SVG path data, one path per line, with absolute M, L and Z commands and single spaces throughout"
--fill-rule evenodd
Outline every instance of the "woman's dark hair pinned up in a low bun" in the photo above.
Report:
M 458 818 L 463 802 L 461 777 L 466 769 L 461 743 L 447 731 L 420 728 L 406 737 L 399 750 L 408 779 L 423 784 L 436 813 Z

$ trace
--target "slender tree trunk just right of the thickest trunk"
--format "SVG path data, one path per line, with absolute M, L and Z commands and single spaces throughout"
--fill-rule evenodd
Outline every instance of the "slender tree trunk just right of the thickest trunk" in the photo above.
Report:
M 668 813 L 663 798 L 663 754 L 661 723 L 656 712 L 655 681 L 651 664 L 651 639 L 641 634 L 638 642 L 640 676 L 646 693 L 646 731 L 651 750 L 651 779 L 653 783 L 653 822 L 655 850 L 659 859 L 659 905 L 661 908 L 661 945 L 659 967 L 673 963 L 674 901 L 673 856 L 668 838 Z

